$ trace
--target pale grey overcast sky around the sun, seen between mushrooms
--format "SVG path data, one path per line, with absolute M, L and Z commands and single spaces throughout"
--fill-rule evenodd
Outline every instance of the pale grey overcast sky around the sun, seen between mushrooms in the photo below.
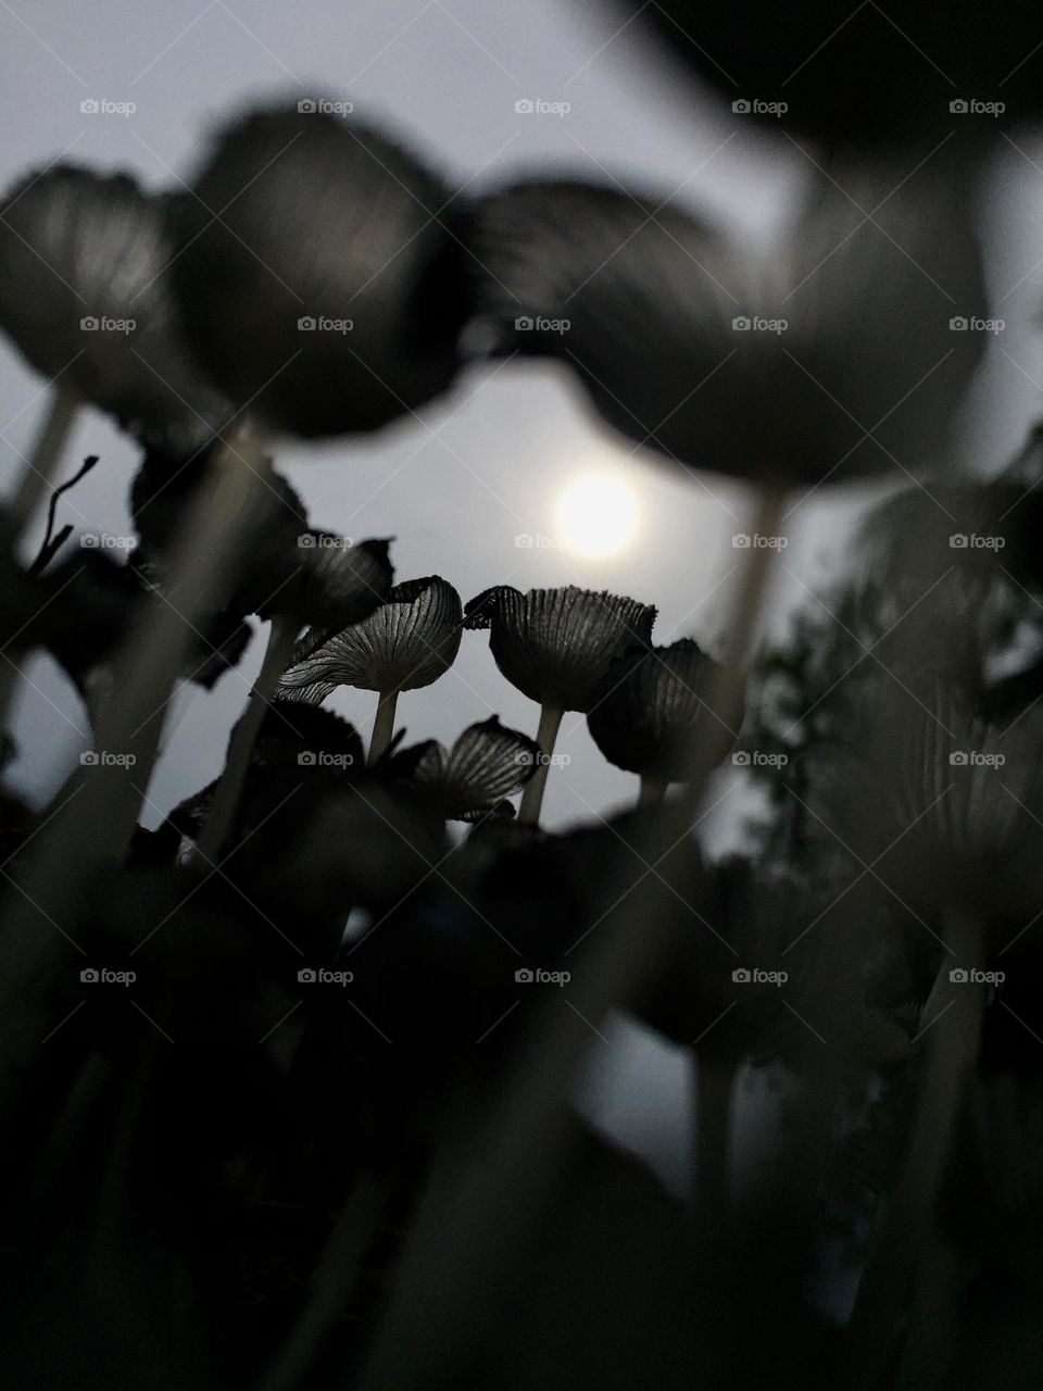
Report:
M 709 211 L 751 238 L 770 235 L 807 185 L 807 160 L 782 135 L 761 135 L 679 86 L 631 29 L 599 7 L 560 0 L 0 0 L 0 178 L 8 182 L 58 156 L 128 168 L 147 186 L 189 174 L 210 124 L 252 99 L 285 93 L 350 100 L 387 122 L 452 184 L 480 189 L 510 175 L 553 168 L 616 175 L 677 206 Z M 85 114 L 85 100 L 134 103 L 129 115 Z M 516 111 L 522 99 L 567 103 L 567 114 Z M 1043 352 L 1043 152 L 1015 132 L 983 182 L 997 313 L 1007 320 L 990 348 L 969 408 L 965 456 L 996 467 L 1039 415 Z M 0 351 L 0 449 L 13 477 L 45 403 L 43 384 Z M 99 467 L 63 501 L 61 519 L 83 531 L 128 530 L 125 497 L 135 449 L 95 412 L 83 412 L 63 469 L 86 453 Z M 747 499 L 706 476 L 672 476 L 647 453 L 595 427 L 584 402 L 548 367 L 512 363 L 466 373 L 444 401 L 375 440 L 321 448 L 286 444 L 277 463 L 302 492 L 316 526 L 356 540 L 395 536 L 399 580 L 438 573 L 464 600 L 494 583 L 520 588 L 574 583 L 658 605 L 658 641 L 691 636 L 719 650 Z M 588 559 L 562 545 L 519 548 L 519 534 L 558 536 L 555 505 L 576 476 L 624 470 L 637 494 L 634 542 Z M 830 492 L 790 522 L 786 597 L 797 598 L 843 552 L 852 506 L 865 494 Z M 193 791 L 221 765 L 260 654 L 210 696 L 182 693 L 146 821 Z M 29 668 L 15 729 L 11 780 L 39 801 L 88 741 L 79 701 L 46 658 Z M 363 727 L 373 701 L 342 691 L 334 708 Z M 399 722 L 409 737 L 452 740 L 490 712 L 533 733 L 537 711 L 496 672 L 485 634 L 466 634 L 455 669 L 407 693 Z M 626 803 L 636 779 L 604 764 L 579 715 L 567 715 L 552 769 L 545 821 L 552 826 Z M 741 796 L 734 798 L 741 805 Z M 734 826 L 736 817 L 726 817 Z M 676 1079 L 674 1079 L 676 1081 Z

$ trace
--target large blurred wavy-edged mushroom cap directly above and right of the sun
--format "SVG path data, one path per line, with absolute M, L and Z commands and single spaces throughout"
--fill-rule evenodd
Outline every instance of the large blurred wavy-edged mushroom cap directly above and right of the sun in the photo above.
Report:
M 987 338 L 950 327 L 985 314 L 967 209 L 926 171 L 897 192 L 837 181 L 762 253 L 658 198 L 515 185 L 474 213 L 480 312 L 501 352 L 560 360 L 609 424 L 686 467 L 805 484 L 935 467 Z

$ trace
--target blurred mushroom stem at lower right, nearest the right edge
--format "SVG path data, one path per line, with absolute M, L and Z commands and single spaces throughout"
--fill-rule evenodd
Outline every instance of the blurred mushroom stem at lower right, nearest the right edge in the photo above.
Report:
M 950 971 L 980 967 L 982 931 L 975 918 L 950 908 L 943 938 L 947 951 L 923 1010 L 919 1036 L 925 1057 L 912 1125 L 898 1175 L 878 1219 L 847 1333 L 837 1385 L 846 1391 L 878 1387 L 893 1352 L 894 1327 L 905 1306 L 914 1269 L 933 1238 L 939 1188 L 955 1139 L 960 1107 L 978 1059 L 986 986 L 955 981 Z M 926 1267 L 925 1267 L 926 1269 Z M 919 1299 L 929 1302 L 921 1287 Z M 935 1367 L 925 1385 L 941 1385 Z

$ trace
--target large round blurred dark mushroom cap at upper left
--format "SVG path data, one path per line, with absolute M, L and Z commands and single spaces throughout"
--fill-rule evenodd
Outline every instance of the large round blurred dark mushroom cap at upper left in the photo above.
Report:
M 369 431 L 444 391 L 464 317 L 451 195 L 374 127 L 292 107 L 225 125 L 174 266 L 223 391 L 302 435 Z

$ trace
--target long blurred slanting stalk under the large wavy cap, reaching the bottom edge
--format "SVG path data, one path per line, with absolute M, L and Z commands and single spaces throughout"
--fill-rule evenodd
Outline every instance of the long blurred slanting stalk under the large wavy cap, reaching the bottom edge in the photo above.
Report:
M 755 526 L 773 536 L 784 494 L 759 490 Z M 759 604 L 776 549 L 751 547 L 730 625 L 731 661 L 712 698 L 719 718 L 736 727 L 745 675 L 738 664 L 752 645 Z M 727 718 L 730 716 L 730 718 Z M 698 737 L 698 736 L 694 736 Z M 715 751 L 716 753 L 716 751 Z M 698 750 L 700 765 L 684 805 L 649 818 L 637 850 L 648 864 L 669 854 L 679 822 L 702 811 L 716 759 Z M 680 803 L 680 800 L 679 800 Z M 412 1385 L 417 1391 L 463 1376 L 473 1330 L 495 1338 L 510 1280 L 556 1192 L 569 1134 L 565 1096 L 590 1049 L 591 1031 L 616 1004 L 634 996 L 676 943 L 683 908 L 649 912 L 654 875 L 602 921 L 591 950 L 569 986 L 569 1010 L 547 1008 L 542 1031 L 516 1064 L 490 1113 L 474 1118 L 481 1142 L 473 1161 L 435 1163 L 385 1306 L 363 1391 Z M 669 919 L 669 921 L 668 921 Z M 687 918 L 686 918 L 687 921 Z

